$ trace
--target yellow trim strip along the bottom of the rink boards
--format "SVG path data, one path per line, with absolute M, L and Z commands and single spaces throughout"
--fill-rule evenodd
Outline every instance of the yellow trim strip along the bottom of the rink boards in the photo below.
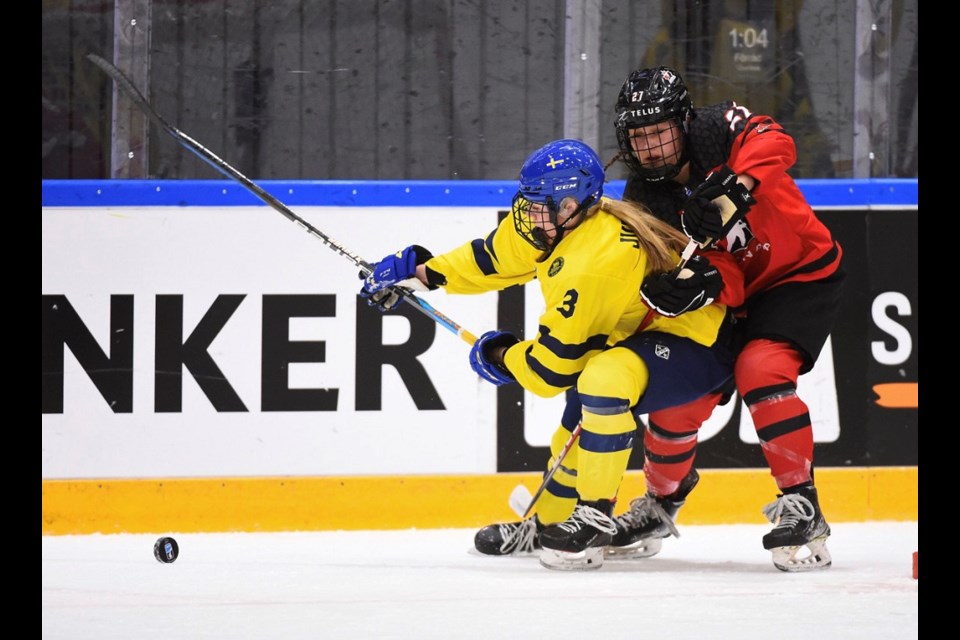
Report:
M 764 521 L 776 497 L 763 469 L 705 469 L 684 524 Z M 513 488 L 540 474 L 41 480 L 41 535 L 440 529 L 516 520 Z M 914 521 L 918 467 L 817 469 L 827 520 Z M 628 472 L 617 512 L 644 491 Z

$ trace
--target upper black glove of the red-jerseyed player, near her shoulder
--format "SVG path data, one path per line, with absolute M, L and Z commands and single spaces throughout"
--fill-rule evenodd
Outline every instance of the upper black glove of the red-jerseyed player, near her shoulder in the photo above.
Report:
M 724 237 L 756 202 L 747 188 L 737 182 L 737 174 L 723 165 L 683 203 L 683 232 L 700 246 L 706 246 Z

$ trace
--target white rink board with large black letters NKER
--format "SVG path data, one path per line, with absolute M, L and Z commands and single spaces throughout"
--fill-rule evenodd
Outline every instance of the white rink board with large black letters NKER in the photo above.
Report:
M 485 208 L 300 207 L 297 215 L 368 261 L 408 244 L 440 253 L 496 225 Z M 419 358 L 446 409 L 417 411 L 393 367 L 383 409 L 354 410 L 356 269 L 266 207 L 43 208 L 42 293 L 65 295 L 110 355 L 110 296 L 134 296 L 133 412 L 117 414 L 64 349 L 62 414 L 42 415 L 41 477 L 192 477 L 496 471 L 495 389 L 469 346 L 437 328 Z M 188 371 L 179 413 L 154 412 L 157 295 L 183 296 L 184 337 L 218 295 L 246 297 L 209 354 L 247 412 L 218 412 Z M 337 388 L 336 411 L 260 411 L 264 295 L 336 296 L 335 317 L 296 318 L 291 340 L 324 341 L 322 363 L 294 363 L 290 388 Z M 475 334 L 494 328 L 496 294 L 424 294 Z M 409 323 L 385 318 L 384 341 Z

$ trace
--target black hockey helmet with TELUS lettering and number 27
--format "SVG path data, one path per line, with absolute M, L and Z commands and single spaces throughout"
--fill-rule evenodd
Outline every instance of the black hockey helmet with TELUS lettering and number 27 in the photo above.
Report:
M 638 69 L 630 73 L 617 96 L 617 143 L 620 157 L 630 170 L 648 182 L 659 182 L 676 176 L 687 161 L 686 132 L 693 119 L 693 102 L 680 74 L 670 67 Z M 683 137 L 675 162 L 645 166 L 638 159 L 630 142 L 630 131 L 667 120 L 678 125 Z

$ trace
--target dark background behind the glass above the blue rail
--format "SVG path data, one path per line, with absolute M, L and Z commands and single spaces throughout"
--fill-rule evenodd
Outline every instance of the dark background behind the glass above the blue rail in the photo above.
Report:
M 777 118 L 794 177 L 918 177 L 917 0 L 870 3 L 875 28 L 858 28 L 867 0 L 586 1 L 599 87 L 579 117 L 605 160 L 623 79 L 667 64 L 695 105 Z M 113 60 L 116 45 L 160 114 L 253 179 L 512 179 L 533 149 L 581 137 L 565 108 L 584 73 L 567 46 L 575 6 L 44 0 L 42 178 L 222 177 L 155 127 L 115 136 L 112 86 L 85 56 Z

